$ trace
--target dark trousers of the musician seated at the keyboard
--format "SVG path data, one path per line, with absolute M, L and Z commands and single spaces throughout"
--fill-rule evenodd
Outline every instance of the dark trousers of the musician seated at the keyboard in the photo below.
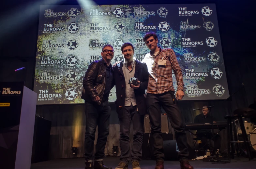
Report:
M 208 133 L 197 133 L 196 134 L 196 136 L 198 137 L 198 138 L 200 138 L 201 139 L 201 141 L 202 141 L 202 144 L 203 144 L 203 146 L 209 141 L 209 139 L 211 139 L 212 138 L 212 133 L 210 133 L 210 132 L 208 132 Z M 214 151 L 216 151 L 217 149 L 220 149 L 220 146 L 221 146 L 221 137 L 217 134 L 217 135 L 215 135 L 214 137 L 213 137 L 213 142 L 214 142 L 214 146 L 212 146 L 212 147 L 214 147 Z M 206 149 L 210 149 L 210 147 L 208 146 L 208 145 L 206 145 L 205 147 L 204 147 L 204 149 L 206 150 Z

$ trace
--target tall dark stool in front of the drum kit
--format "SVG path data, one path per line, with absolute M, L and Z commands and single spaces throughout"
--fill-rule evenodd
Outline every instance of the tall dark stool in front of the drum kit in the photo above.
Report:
M 229 158 L 229 160 L 230 160 L 230 147 L 232 146 L 232 143 L 245 143 L 245 147 L 246 147 L 246 150 L 247 150 L 247 153 L 248 153 L 248 158 L 249 158 L 249 160 L 253 159 L 252 153 L 251 153 L 251 150 L 250 150 L 248 137 L 247 137 L 245 126 L 244 126 L 244 122 L 243 122 L 243 117 L 245 117 L 245 116 L 244 115 L 238 115 L 238 114 L 226 115 L 225 116 L 225 119 L 227 119 L 227 125 L 228 125 L 228 158 Z M 232 140 L 232 138 L 233 138 L 232 134 L 234 132 L 233 128 L 232 128 L 232 121 L 234 119 L 238 119 L 238 121 L 240 123 L 240 127 L 241 127 L 242 136 L 243 136 L 244 141 Z

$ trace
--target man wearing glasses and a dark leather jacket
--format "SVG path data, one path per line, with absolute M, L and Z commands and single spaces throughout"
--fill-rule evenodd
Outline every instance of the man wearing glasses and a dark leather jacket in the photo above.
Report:
M 113 70 L 111 60 L 114 50 L 111 45 L 105 45 L 101 52 L 102 59 L 92 62 L 83 78 L 82 97 L 85 100 L 85 169 L 112 169 L 103 163 L 104 149 L 109 135 L 110 106 L 108 97 L 113 87 Z M 96 126 L 98 125 L 98 140 L 93 158 Z M 93 166 L 93 159 L 95 159 Z

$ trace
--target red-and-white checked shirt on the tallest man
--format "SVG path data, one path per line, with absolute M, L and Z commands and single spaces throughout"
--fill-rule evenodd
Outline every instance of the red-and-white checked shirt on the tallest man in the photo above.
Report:
M 166 60 L 166 65 L 158 65 L 159 59 Z M 147 93 L 161 94 L 170 90 L 174 91 L 172 70 L 177 80 L 177 90 L 183 90 L 182 71 L 173 49 L 160 48 L 156 56 L 150 52 L 146 54 L 142 62 L 146 63 L 150 74 Z

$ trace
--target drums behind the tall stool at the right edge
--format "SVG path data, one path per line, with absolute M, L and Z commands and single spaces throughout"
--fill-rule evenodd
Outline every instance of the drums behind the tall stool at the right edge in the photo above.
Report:
M 238 139 L 240 136 L 242 136 L 241 124 L 239 123 L 238 119 L 234 120 L 233 123 L 235 128 L 234 131 L 236 131 L 236 138 Z M 244 121 L 244 126 L 250 142 L 251 150 L 256 152 L 256 125 L 254 123 Z

